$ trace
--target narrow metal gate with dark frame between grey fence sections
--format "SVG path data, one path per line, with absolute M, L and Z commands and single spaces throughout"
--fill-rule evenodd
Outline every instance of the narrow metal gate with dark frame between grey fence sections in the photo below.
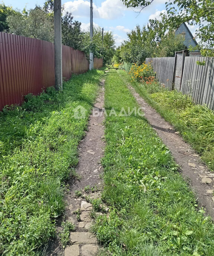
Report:
M 174 77 L 173 77 L 173 84 L 174 89 L 181 90 L 181 81 L 182 81 L 182 74 L 184 69 L 184 59 L 187 56 L 187 50 L 175 52 L 175 69 L 174 69 Z

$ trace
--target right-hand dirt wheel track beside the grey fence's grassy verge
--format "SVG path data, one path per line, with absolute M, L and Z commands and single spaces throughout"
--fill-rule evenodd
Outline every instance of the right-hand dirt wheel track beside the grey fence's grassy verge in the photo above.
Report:
M 207 166 L 202 163 L 200 156 L 182 139 L 178 132 L 166 122 L 145 100 L 128 85 L 132 95 L 145 112 L 145 118 L 155 129 L 163 143 L 169 148 L 185 180 L 199 199 L 200 206 L 214 218 L 214 173 L 210 173 Z

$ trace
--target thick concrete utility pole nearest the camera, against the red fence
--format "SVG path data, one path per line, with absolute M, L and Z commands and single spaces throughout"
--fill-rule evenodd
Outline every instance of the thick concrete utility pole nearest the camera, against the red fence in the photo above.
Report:
M 62 90 L 62 4 L 54 0 L 55 89 Z

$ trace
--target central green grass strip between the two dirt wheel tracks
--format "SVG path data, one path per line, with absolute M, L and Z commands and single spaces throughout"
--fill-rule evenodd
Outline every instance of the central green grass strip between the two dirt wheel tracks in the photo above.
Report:
M 118 73 L 106 76 L 105 108 L 139 107 Z M 114 256 L 213 256 L 214 225 L 197 208 L 168 148 L 140 116 L 108 116 L 103 158 L 109 215 L 97 239 Z M 101 253 L 105 255 L 105 253 Z

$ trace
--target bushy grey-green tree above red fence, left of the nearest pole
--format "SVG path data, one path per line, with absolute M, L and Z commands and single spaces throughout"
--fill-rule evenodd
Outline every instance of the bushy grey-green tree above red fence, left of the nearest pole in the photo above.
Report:
M 52 19 L 39 6 L 13 13 L 6 20 L 10 33 L 53 42 Z

